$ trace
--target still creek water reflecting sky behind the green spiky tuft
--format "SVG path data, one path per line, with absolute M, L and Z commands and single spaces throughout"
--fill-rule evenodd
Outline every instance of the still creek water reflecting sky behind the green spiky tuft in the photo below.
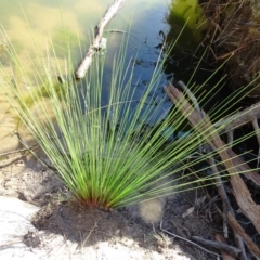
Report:
M 38 53 L 46 53 L 52 41 L 58 62 L 64 63 L 66 50 L 64 32 L 69 38 L 75 64 L 79 63 L 82 56 L 79 49 L 81 48 L 82 52 L 88 49 L 94 26 L 112 2 L 112 0 L 21 0 L 17 3 L 16 0 L 0 0 L 0 22 L 24 69 L 32 77 L 36 70 L 38 73 L 41 70 L 41 67 L 34 65 L 37 58 L 32 51 L 35 47 Z M 161 0 L 125 1 L 106 27 L 108 30 L 131 28 L 128 55 L 135 55 L 139 50 L 136 72 L 138 77 L 142 75 L 141 84 L 145 86 L 150 80 L 160 52 L 160 49 L 156 47 L 162 43 L 164 34 L 170 32 L 170 38 L 177 39 L 185 21 L 194 13 L 197 15 L 196 2 L 196 0 L 173 0 L 169 5 L 169 1 Z M 176 11 L 171 12 L 170 6 L 173 6 Z M 178 44 L 187 48 L 187 42 L 193 42 L 194 37 L 191 31 L 194 29 L 194 23 L 191 21 L 187 23 L 185 37 L 181 37 Z M 109 38 L 109 46 L 118 48 L 121 38 L 119 34 L 106 32 L 105 37 Z M 0 40 L 4 43 L 3 37 Z M 194 46 L 191 44 L 190 48 Z M 18 69 L 10 63 L 4 51 L 0 52 L 0 62 L 16 80 L 23 81 Z M 171 75 L 172 72 L 169 74 Z M 169 79 L 169 74 L 162 78 L 161 88 Z M 16 122 L 9 110 L 9 104 L 4 96 L 0 96 L 0 153 L 5 153 L 18 148 L 20 144 L 16 136 L 12 134 Z

